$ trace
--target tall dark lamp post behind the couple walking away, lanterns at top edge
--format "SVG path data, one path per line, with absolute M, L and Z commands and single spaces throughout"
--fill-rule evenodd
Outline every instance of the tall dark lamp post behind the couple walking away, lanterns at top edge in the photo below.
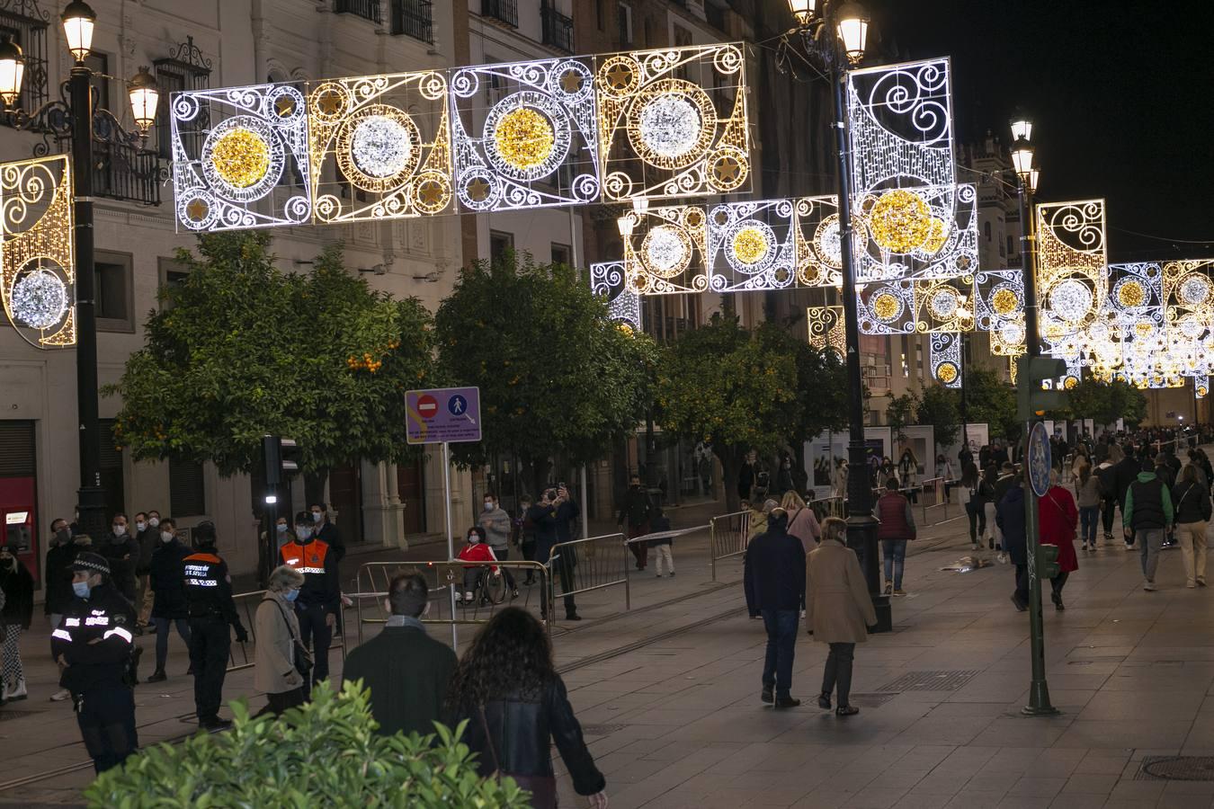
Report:
M 855 2 L 826 0 L 788 0 L 796 18 L 806 56 L 826 68 L 830 81 L 830 101 L 835 130 L 839 194 L 839 250 L 843 260 L 844 337 L 847 361 L 847 546 L 860 556 L 868 592 L 877 608 L 875 632 L 892 628 L 890 599 L 881 594 L 880 558 L 877 547 L 877 519 L 873 517 L 873 490 L 868 480 L 864 446 L 864 380 L 860 364 L 860 318 L 856 303 L 856 267 L 851 226 L 851 155 L 847 143 L 847 108 L 844 85 L 847 70 L 864 58 L 868 39 L 868 15 Z

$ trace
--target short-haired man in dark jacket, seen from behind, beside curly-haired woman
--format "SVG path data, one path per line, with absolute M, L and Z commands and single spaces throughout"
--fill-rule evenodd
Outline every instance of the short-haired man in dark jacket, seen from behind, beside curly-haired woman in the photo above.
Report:
M 388 611 L 384 631 L 346 657 L 341 677 L 361 679 L 370 690 L 380 734 L 415 730 L 424 736 L 435 731 L 435 722 L 448 720 L 443 700 L 458 661 L 450 646 L 426 634 L 420 619 L 429 594 L 419 574 L 392 579 L 384 599 Z

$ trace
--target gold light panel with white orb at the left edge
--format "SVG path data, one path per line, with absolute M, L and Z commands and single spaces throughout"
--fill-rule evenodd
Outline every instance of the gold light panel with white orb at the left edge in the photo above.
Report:
M 73 195 L 66 155 L 0 164 L 0 303 L 35 348 L 75 343 Z

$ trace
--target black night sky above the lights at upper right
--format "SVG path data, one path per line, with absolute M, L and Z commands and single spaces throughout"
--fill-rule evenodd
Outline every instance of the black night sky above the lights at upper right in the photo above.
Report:
M 963 142 L 989 129 L 1006 143 L 1014 110 L 1028 113 L 1038 198 L 1104 196 L 1111 262 L 1214 257 L 1214 4 L 864 5 L 883 50 L 953 57 Z

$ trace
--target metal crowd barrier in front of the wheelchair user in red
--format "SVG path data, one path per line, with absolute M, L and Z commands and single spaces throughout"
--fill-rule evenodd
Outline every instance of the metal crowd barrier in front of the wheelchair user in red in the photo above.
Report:
M 452 611 L 452 592 L 465 592 L 464 572 L 469 569 L 483 568 L 483 577 L 473 585 L 471 603 L 455 603 Z M 492 569 L 498 568 L 500 576 L 494 576 Z M 518 588 L 518 598 L 511 594 L 506 571 L 514 577 Z M 354 579 L 357 592 L 346 593 L 354 602 L 358 616 L 358 643 L 363 642 L 363 627 L 385 623 L 387 616 L 380 604 L 387 598 L 388 583 L 397 574 L 420 572 L 430 586 L 430 608 L 422 614 L 422 623 L 443 623 L 447 626 L 486 623 L 498 609 L 520 606 L 528 611 L 540 611 L 540 593 L 550 587 L 548 568 L 538 562 L 510 559 L 484 564 L 471 564 L 461 559 L 439 562 L 367 562 L 358 568 Z M 535 585 L 523 586 L 523 579 L 531 572 L 538 577 Z M 364 608 L 364 603 L 371 604 Z

